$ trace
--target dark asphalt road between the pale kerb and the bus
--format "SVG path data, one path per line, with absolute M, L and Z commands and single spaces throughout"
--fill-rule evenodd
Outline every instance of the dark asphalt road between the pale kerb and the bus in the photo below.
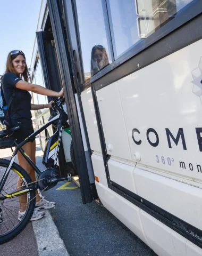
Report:
M 38 157 L 37 163 L 41 159 Z M 95 202 L 83 205 L 80 188 L 56 190 L 64 183 L 59 182 L 43 195 L 57 203 L 49 211 L 70 256 L 156 255 L 104 207 Z

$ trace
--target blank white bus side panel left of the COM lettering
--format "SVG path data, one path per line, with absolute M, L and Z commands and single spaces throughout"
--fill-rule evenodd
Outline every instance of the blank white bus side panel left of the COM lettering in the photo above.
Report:
M 96 94 L 107 154 L 132 161 L 117 82 Z

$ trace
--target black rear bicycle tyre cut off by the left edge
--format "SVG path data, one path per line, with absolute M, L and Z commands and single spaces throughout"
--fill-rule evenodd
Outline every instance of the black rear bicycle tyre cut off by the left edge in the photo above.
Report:
M 0 158 L 0 166 L 9 167 L 9 164 L 10 164 L 9 160 Z M 20 165 L 13 163 L 12 169 L 15 169 L 15 171 L 19 172 L 27 183 L 32 182 L 29 174 Z M 36 198 L 34 198 L 35 190 L 30 190 L 29 193 L 30 193 L 30 201 L 27 206 L 27 211 L 24 214 L 24 218 L 12 230 L 10 230 L 9 232 L 3 235 L 0 235 L 0 244 L 10 241 L 15 236 L 19 235 L 21 231 L 27 226 L 29 220 L 31 219 L 33 211 L 35 209 L 35 203 L 36 203 Z

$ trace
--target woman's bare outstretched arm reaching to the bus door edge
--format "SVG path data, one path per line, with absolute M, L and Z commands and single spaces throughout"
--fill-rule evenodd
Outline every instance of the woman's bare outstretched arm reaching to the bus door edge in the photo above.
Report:
M 26 81 L 20 80 L 15 84 L 16 88 L 26 91 L 35 92 L 41 95 L 52 96 L 52 97 L 62 97 L 64 95 L 63 89 L 60 92 L 55 92 L 44 88 L 43 86 L 37 84 L 30 84 Z

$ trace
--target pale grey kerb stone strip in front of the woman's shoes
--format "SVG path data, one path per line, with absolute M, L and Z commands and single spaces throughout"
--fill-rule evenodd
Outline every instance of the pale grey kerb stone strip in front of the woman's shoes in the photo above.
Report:
M 39 256 L 70 256 L 48 210 L 44 218 L 32 221 L 32 227 Z

